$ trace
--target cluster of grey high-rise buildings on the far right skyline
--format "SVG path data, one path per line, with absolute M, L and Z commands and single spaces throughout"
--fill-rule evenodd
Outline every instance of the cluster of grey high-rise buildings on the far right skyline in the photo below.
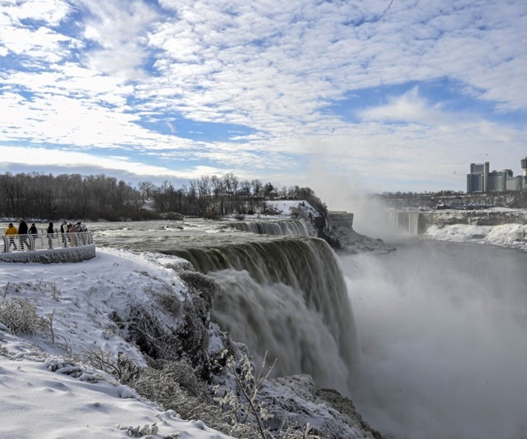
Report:
M 513 175 L 512 169 L 489 172 L 489 163 L 471 163 L 466 175 L 466 193 L 523 191 L 527 185 L 527 157 L 521 159 L 523 175 Z

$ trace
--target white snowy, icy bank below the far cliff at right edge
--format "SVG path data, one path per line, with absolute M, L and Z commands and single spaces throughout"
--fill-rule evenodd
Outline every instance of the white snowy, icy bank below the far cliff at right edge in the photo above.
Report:
M 499 226 L 451 224 L 448 226 L 431 226 L 420 235 L 420 238 L 488 244 L 527 251 L 527 242 L 518 239 L 518 237 L 523 237 L 524 233 L 527 239 L 527 225 L 524 224 L 502 224 Z

